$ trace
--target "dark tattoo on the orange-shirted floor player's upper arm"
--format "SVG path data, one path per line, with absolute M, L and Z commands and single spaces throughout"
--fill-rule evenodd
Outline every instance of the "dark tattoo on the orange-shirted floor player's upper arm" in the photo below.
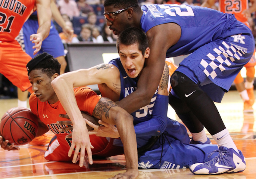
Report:
M 106 97 L 101 97 L 101 99 L 98 101 L 98 103 L 96 104 L 93 110 L 92 116 L 102 119 L 102 116 L 105 115 L 105 118 L 108 119 L 109 118 L 108 112 L 110 108 L 115 106 L 117 106 L 117 104 L 111 101 L 110 99 Z

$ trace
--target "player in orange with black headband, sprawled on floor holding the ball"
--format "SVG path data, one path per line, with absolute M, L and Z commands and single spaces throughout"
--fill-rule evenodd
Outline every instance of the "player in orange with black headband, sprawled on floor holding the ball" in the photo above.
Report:
M 51 85 L 52 80 L 59 76 L 60 68 L 61 65 L 58 60 L 47 53 L 36 56 L 27 64 L 29 80 L 34 91 L 34 94 L 30 96 L 29 103 L 31 111 L 39 118 L 37 136 L 46 133 L 48 130 L 55 133 L 55 137 L 52 138 L 45 152 L 45 159 L 51 161 L 72 161 L 75 163 L 79 159 L 77 158 L 79 150 L 73 151 L 72 149 L 70 151 L 72 138 L 65 138 L 72 131 L 61 131 L 61 128 L 67 126 L 56 124 L 57 121 L 63 120 L 59 117 L 59 114 L 66 114 Z M 124 144 L 124 147 L 118 147 L 113 144 L 114 139 L 91 135 L 92 151 L 81 150 L 79 166 L 84 164 L 81 162 L 83 161 L 81 160 L 82 153 L 84 159 L 86 153 L 88 157 L 92 157 L 89 156 L 92 154 L 109 157 L 123 154 L 124 150 L 127 165 L 126 174 L 133 176 L 131 178 L 136 178 L 139 171 L 137 167 L 137 148 L 133 117 L 113 101 L 98 96 L 88 87 L 74 88 L 74 94 L 81 111 L 110 124 L 117 125 L 117 129 L 121 129 L 119 133 Z M 125 121 L 120 122 L 120 119 L 125 119 Z M 124 138 L 123 136 L 126 137 Z M 118 139 L 116 140 L 118 141 Z M 1 147 L 6 150 L 18 150 L 13 145 L 6 145 L 7 143 L 1 140 Z M 79 149 L 80 147 L 77 148 Z

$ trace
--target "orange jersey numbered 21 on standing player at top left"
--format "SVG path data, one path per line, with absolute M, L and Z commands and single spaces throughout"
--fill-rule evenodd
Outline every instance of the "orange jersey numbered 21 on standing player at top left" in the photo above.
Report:
M 12 41 L 33 12 L 36 0 L 0 0 L 0 41 Z

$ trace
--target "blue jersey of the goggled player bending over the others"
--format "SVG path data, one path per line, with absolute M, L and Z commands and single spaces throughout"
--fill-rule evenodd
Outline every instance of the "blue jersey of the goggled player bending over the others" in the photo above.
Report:
M 144 32 L 164 23 L 176 23 L 181 27 L 180 40 L 167 50 L 166 57 L 190 54 L 217 40 L 226 22 L 236 20 L 233 14 L 199 6 L 155 4 L 143 5 L 141 8 L 143 15 L 140 24 Z

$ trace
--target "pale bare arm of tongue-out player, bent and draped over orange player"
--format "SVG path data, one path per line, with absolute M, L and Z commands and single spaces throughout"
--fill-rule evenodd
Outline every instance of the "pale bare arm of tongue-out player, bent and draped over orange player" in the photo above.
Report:
M 106 73 L 105 75 L 103 75 L 104 73 L 102 73 L 102 71 L 105 69 L 107 70 L 109 68 L 93 67 L 90 69 L 77 70 L 74 72 L 64 73 L 63 75 L 58 76 L 52 81 L 52 87 L 55 90 L 62 106 L 64 107 L 64 110 L 67 112 L 67 115 L 70 117 L 70 120 L 74 125 L 72 134 L 72 145 L 70 147 L 68 155 L 71 156 L 72 151 L 76 146 L 77 150 L 75 151 L 72 160 L 72 162 L 75 163 L 79 148 L 81 148 L 81 156 L 79 162 L 79 166 L 81 167 L 83 166 L 85 149 L 87 150 L 89 163 L 92 164 L 91 148 L 93 148 L 93 146 L 90 143 L 88 131 L 84 130 L 86 128 L 86 123 L 76 103 L 73 87 L 102 83 L 102 80 L 104 80 L 104 78 L 108 76 L 108 73 Z

